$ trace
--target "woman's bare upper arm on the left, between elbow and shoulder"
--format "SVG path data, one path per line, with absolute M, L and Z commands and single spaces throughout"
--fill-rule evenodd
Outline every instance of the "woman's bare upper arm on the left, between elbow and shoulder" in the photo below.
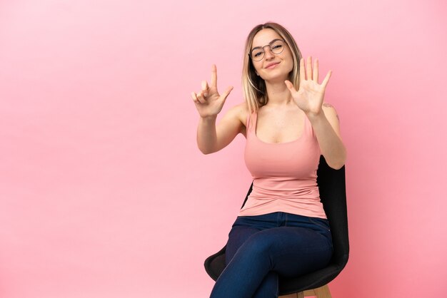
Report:
M 230 108 L 216 125 L 217 148 L 216 151 L 225 148 L 236 138 L 238 133 L 245 131 L 246 104 L 241 103 Z

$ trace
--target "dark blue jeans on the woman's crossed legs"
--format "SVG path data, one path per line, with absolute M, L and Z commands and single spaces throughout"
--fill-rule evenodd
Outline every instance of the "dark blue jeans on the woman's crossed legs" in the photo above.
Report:
M 276 298 L 278 275 L 297 277 L 326 267 L 332 252 L 328 220 L 286 212 L 239 216 L 211 298 Z

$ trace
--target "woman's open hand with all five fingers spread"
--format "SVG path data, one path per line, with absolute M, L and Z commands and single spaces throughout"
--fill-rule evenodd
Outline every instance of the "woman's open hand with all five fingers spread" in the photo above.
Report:
M 301 108 L 306 115 L 319 115 L 323 106 L 324 91 L 331 78 L 332 71 L 329 71 L 321 84 L 318 83 L 318 59 L 313 61 L 308 57 L 306 69 L 304 68 L 304 58 L 300 61 L 300 86 L 298 91 L 290 81 L 285 81 L 288 90 L 291 92 L 293 100 L 298 108 Z M 306 79 L 307 77 L 307 79 Z

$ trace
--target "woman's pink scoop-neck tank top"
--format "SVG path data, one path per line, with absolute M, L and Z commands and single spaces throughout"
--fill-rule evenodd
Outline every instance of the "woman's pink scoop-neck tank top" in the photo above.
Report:
M 239 215 L 288 212 L 326 219 L 316 184 L 320 147 L 308 118 L 301 137 L 287 143 L 266 143 L 256 136 L 257 113 L 247 117 L 245 163 L 253 190 Z

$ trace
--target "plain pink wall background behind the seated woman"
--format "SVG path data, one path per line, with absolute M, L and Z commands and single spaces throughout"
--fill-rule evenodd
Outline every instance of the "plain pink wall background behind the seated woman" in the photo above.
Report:
M 211 1 L 212 2 L 212 1 Z M 242 101 L 277 21 L 333 70 L 351 258 L 333 297 L 446 297 L 444 1 L 0 2 L 0 297 L 208 297 L 251 183 L 240 135 L 196 148 L 216 63 Z

